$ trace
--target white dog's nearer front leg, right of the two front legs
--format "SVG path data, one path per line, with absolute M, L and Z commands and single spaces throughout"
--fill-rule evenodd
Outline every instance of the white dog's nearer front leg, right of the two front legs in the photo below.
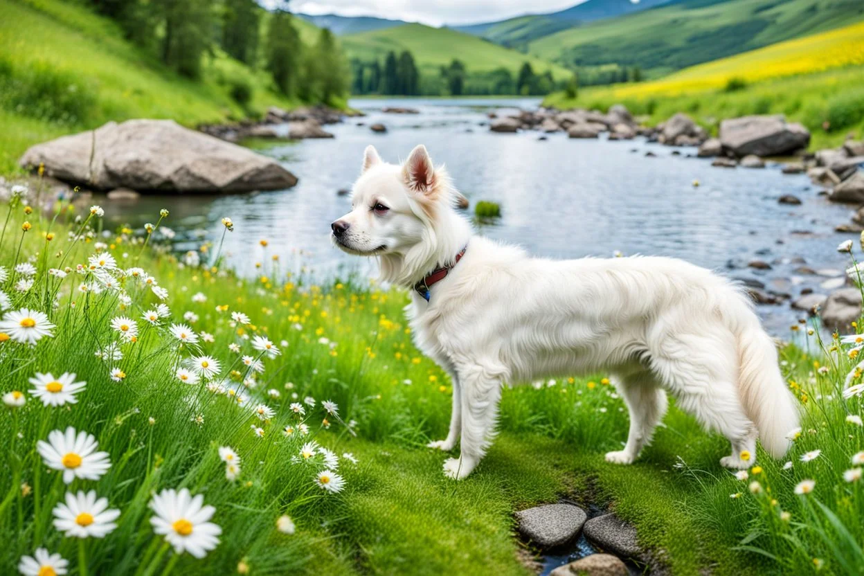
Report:
M 473 366 L 459 370 L 461 386 L 462 439 L 459 458 L 444 462 L 449 478 L 466 478 L 480 464 L 492 440 L 492 428 L 498 415 L 501 377 L 493 370 Z

